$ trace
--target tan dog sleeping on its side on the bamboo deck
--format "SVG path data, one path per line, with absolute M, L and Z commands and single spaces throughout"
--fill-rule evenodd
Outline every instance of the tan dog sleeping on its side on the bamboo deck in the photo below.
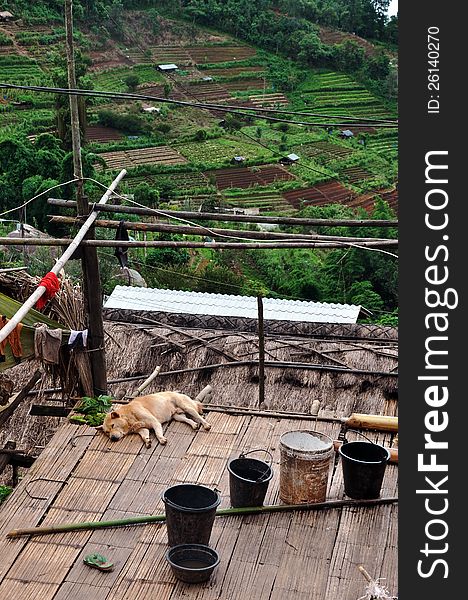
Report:
M 192 417 L 189 419 L 187 415 Z M 147 448 L 151 448 L 149 432 L 153 429 L 160 444 L 165 444 L 167 439 L 163 435 L 162 423 L 171 419 L 187 423 L 193 429 L 200 425 L 206 431 L 211 425 L 201 415 L 203 405 L 179 392 L 158 392 L 135 398 L 114 410 L 104 419 L 104 423 L 97 429 L 102 429 L 113 442 L 122 439 L 127 433 L 138 433 Z

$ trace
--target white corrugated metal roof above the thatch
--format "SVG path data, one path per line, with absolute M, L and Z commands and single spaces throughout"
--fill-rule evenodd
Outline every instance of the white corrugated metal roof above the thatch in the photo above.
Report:
M 356 323 L 360 306 L 265 298 L 264 318 L 308 323 Z M 254 296 L 181 292 L 118 285 L 104 308 L 191 315 L 257 318 Z

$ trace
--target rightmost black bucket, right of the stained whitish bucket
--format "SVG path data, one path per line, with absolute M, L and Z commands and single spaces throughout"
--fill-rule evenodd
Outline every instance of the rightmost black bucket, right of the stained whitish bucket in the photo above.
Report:
M 340 446 L 345 494 L 355 500 L 380 496 L 390 452 L 372 442 L 347 442 Z

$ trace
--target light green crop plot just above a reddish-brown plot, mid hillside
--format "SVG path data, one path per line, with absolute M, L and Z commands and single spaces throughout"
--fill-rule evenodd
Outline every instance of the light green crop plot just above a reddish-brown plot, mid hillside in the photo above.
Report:
M 247 159 L 273 156 L 273 153 L 263 146 L 231 139 L 188 142 L 178 144 L 175 148 L 192 163 L 223 163 L 234 156 L 244 156 Z

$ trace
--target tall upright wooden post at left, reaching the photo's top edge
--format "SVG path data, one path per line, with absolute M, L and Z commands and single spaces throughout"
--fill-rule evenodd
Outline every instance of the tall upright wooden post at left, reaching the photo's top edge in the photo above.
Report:
M 76 89 L 75 52 L 73 43 L 73 0 L 65 0 L 65 32 L 67 47 L 68 87 Z M 77 182 L 76 201 L 78 215 L 89 214 L 88 199 L 83 191 L 83 164 L 81 160 L 80 119 L 78 98 L 70 95 L 73 170 Z M 94 238 L 94 228 L 87 239 Z M 104 323 L 102 320 L 102 291 L 99 277 L 97 249 L 82 246 L 83 297 L 88 316 L 88 350 L 91 359 L 93 388 L 96 395 L 107 393 L 106 355 L 104 351 Z

